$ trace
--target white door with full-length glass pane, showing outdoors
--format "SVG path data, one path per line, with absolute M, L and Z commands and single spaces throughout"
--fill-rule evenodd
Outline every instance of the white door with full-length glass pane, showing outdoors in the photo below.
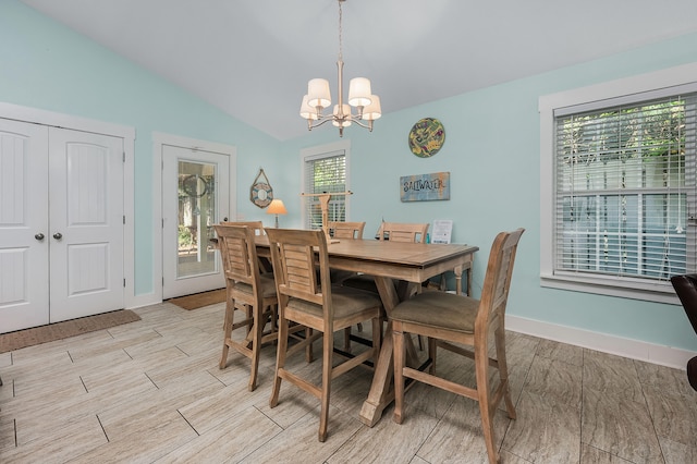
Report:
M 162 145 L 162 297 L 224 286 L 213 224 L 230 211 L 230 156 Z

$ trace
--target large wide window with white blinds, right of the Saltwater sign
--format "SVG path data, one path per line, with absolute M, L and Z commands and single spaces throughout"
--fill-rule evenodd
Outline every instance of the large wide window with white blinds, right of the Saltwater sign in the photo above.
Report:
M 624 100 L 554 112 L 553 272 L 668 288 L 697 269 L 697 94 Z

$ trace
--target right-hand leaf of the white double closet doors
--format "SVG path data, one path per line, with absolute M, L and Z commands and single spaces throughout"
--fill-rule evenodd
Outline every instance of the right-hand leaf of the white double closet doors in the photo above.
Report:
M 49 166 L 50 321 L 123 308 L 123 139 L 51 127 Z

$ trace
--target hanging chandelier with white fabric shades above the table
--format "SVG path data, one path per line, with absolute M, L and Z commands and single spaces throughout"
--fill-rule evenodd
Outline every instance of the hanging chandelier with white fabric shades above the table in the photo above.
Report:
M 307 120 L 307 129 L 311 131 L 331 121 L 339 127 L 339 136 L 343 137 L 344 127 L 348 127 L 355 122 L 362 127 L 372 132 L 372 121 L 382 115 L 380 111 L 380 98 L 370 91 L 370 80 L 366 77 L 354 77 L 348 84 L 348 103 L 344 103 L 344 61 L 342 51 L 342 10 L 341 4 L 346 0 L 339 0 L 339 59 L 337 70 L 339 74 L 339 103 L 334 105 L 333 112 L 323 113 L 326 108 L 331 106 L 331 93 L 329 91 L 329 81 L 326 78 L 314 78 L 307 83 L 307 95 L 303 97 L 301 105 L 301 117 Z M 352 108 L 356 108 L 357 113 L 352 113 Z M 365 121 L 365 122 L 364 122 Z

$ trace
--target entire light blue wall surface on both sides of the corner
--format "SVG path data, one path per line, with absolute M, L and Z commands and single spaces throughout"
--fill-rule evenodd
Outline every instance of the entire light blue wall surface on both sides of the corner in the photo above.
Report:
M 541 95 L 695 61 L 697 35 L 644 47 L 455 98 L 389 112 L 374 133 L 350 127 L 351 219 L 454 220 L 453 241 L 481 247 L 475 262 L 479 292 L 488 248 L 497 232 L 525 227 L 509 304 L 512 315 L 697 351 L 678 306 L 573 293 L 539 286 L 539 119 Z M 476 70 L 472 71 L 476 73 Z M 377 83 L 376 91 L 379 94 Z M 136 293 L 151 289 L 151 133 L 164 132 L 237 147 L 237 215 L 271 220 L 248 202 L 262 167 L 288 227 L 301 225 L 299 150 L 338 141 L 320 127 L 280 143 L 41 16 L 16 0 L 0 2 L 0 101 L 134 126 L 136 181 Z M 414 122 L 440 119 L 447 142 L 433 158 L 406 145 Z M 303 124 L 302 120 L 297 121 Z M 451 200 L 403 204 L 401 175 L 451 172 Z

